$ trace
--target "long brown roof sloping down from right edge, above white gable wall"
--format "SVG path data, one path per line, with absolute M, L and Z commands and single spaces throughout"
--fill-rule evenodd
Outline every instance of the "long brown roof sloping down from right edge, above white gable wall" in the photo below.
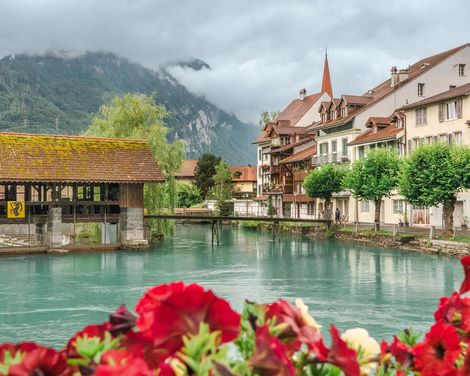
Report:
M 430 69 L 434 68 L 437 64 L 441 63 L 445 59 L 447 59 L 449 56 L 452 56 L 453 54 L 459 52 L 460 50 L 470 47 L 470 43 L 463 44 L 461 46 L 458 46 L 456 48 L 452 48 L 450 50 L 441 52 L 436 55 L 428 56 L 425 57 L 418 62 L 414 63 L 413 65 L 410 65 L 408 68 L 408 79 L 403 80 L 402 82 L 397 83 L 395 86 L 390 85 L 391 79 L 389 78 L 388 80 L 385 80 L 381 84 L 377 85 L 371 90 L 368 90 L 366 93 L 362 95 L 362 97 L 367 97 L 367 98 L 372 98 L 370 99 L 367 104 L 364 106 L 356 109 L 354 113 L 352 111 L 346 118 L 340 118 L 336 119 L 333 121 L 325 122 L 325 123 L 320 123 L 320 124 L 315 124 L 309 126 L 309 130 L 314 130 L 314 129 L 326 129 L 326 128 L 331 128 L 336 125 L 341 125 L 345 124 L 349 120 L 351 120 L 355 115 L 365 111 L 369 107 L 373 106 L 375 103 L 379 102 L 381 99 L 384 97 L 392 94 L 393 92 L 397 91 L 401 87 L 405 86 L 408 84 L 411 80 L 419 77 L 423 73 L 429 71 Z M 353 116 L 351 116 L 353 115 Z

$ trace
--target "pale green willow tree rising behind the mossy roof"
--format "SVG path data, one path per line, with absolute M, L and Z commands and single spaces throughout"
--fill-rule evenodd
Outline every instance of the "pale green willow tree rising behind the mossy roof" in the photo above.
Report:
M 145 207 L 150 213 L 174 211 L 177 204 L 174 174 L 183 163 L 183 143 L 167 140 L 168 128 L 164 106 L 155 104 L 153 96 L 139 93 L 125 94 L 111 99 L 100 107 L 93 117 L 86 136 L 131 138 L 147 140 L 150 150 L 165 175 L 165 184 L 146 184 Z M 171 230 L 168 222 L 153 223 L 157 232 Z

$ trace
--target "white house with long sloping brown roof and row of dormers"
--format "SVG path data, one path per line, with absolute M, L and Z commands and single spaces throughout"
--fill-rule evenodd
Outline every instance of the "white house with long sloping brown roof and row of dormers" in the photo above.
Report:
M 470 44 L 467 43 L 423 58 L 404 69 L 392 67 L 389 79 L 362 95 L 341 95 L 332 98 L 329 103 L 322 103 L 320 120 L 306 129 L 306 133 L 312 134 L 317 142 L 314 165 L 349 163 L 360 158 L 366 144 L 354 144 L 353 141 L 359 139 L 361 142 L 360 139 L 366 137 L 364 133 L 370 137 L 374 129 L 385 129 L 386 124 L 380 124 L 383 121 L 380 118 L 389 118 L 400 107 L 470 82 L 470 75 L 466 72 L 469 66 Z M 375 122 L 375 128 L 371 120 Z M 404 145 L 399 147 L 404 152 Z M 333 206 L 333 210 L 340 208 L 349 220 L 352 220 L 349 213 L 354 213 L 353 217 L 357 218 L 359 205 L 356 200 L 350 199 L 348 192 L 335 195 Z M 364 207 L 364 210 L 373 212 L 374 209 Z M 387 222 L 385 216 L 384 220 Z

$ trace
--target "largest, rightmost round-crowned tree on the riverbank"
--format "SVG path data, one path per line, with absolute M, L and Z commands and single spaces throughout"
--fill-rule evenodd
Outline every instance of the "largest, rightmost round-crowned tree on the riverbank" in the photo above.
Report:
M 470 148 L 438 143 L 420 146 L 403 163 L 400 192 L 419 206 L 442 204 L 444 234 L 454 227 L 457 194 L 470 188 Z

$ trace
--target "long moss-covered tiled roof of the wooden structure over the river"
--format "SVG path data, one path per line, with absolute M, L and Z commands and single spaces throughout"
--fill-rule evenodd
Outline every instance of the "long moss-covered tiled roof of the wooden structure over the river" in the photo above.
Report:
M 165 177 L 141 140 L 0 133 L 0 181 L 160 182 Z

